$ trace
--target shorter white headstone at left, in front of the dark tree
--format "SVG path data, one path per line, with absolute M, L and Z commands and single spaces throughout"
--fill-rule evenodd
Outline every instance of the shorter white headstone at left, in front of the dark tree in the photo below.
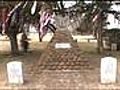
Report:
M 10 84 L 23 84 L 22 62 L 7 63 L 7 75 Z

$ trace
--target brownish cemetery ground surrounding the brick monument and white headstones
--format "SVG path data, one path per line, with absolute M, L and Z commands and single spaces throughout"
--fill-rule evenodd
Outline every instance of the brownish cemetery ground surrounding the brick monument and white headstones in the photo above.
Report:
M 89 62 L 86 68 L 78 70 L 37 70 L 33 65 L 41 58 L 48 42 L 30 42 L 30 51 L 12 58 L 9 54 L 9 42 L 0 41 L 0 90 L 120 90 L 120 52 L 104 51 L 98 54 L 96 42 L 78 42 L 80 58 Z M 113 84 L 100 83 L 100 59 L 112 53 L 118 60 L 117 81 Z M 17 60 L 23 63 L 23 85 L 7 83 L 6 64 Z M 36 65 L 37 66 L 37 65 Z M 32 68 L 31 68 L 32 67 Z M 70 66 L 72 68 L 72 66 Z

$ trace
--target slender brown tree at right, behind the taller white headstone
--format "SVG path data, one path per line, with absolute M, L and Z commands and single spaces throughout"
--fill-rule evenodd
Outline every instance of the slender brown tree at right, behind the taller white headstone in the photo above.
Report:
M 97 35 L 97 43 L 98 43 L 98 52 L 101 53 L 103 51 L 103 26 L 105 25 L 105 21 L 106 21 L 106 12 L 109 10 L 110 6 L 111 6 L 111 2 L 109 1 L 96 1 L 96 6 L 98 9 L 98 17 L 96 19 L 96 23 L 97 23 L 97 31 L 96 31 L 96 35 Z

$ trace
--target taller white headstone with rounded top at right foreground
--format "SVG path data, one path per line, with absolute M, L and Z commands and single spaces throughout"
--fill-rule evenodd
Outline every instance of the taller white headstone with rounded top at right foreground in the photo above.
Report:
M 117 59 L 105 57 L 101 59 L 101 83 L 115 83 L 117 74 Z

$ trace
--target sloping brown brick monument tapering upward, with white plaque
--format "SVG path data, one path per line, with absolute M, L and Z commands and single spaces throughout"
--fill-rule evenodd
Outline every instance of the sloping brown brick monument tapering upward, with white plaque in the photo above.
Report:
M 33 65 L 33 71 L 90 69 L 89 61 L 81 59 L 81 53 L 69 32 L 57 31 L 39 61 Z

